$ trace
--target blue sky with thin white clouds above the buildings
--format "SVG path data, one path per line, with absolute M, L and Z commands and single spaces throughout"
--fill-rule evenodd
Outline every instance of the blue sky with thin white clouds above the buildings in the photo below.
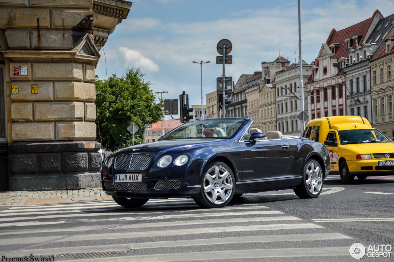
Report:
M 261 71 L 262 61 L 273 61 L 279 54 L 291 63 L 299 61 L 297 0 L 132 2 L 127 19 L 100 51 L 100 79 L 140 67 L 154 92 L 169 92 L 163 98 L 178 99 L 186 91 L 191 105 L 201 105 L 200 65 L 192 61 L 211 61 L 203 65 L 206 104 L 205 94 L 216 90 L 216 78 L 222 74 L 216 64 L 221 39 L 232 42 L 233 63 L 226 65 L 226 76 L 234 82 L 241 74 Z M 361 22 L 376 9 L 387 17 L 394 13 L 394 1 L 301 0 L 302 59 L 314 61 L 333 28 Z

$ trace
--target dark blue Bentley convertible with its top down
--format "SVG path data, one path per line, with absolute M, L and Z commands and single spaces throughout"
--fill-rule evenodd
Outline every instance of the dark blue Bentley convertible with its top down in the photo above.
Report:
M 318 197 L 330 171 L 327 147 L 307 138 L 263 134 L 248 118 L 185 123 L 156 142 L 110 154 L 102 188 L 121 206 L 149 199 L 192 198 L 222 207 L 243 193 L 294 189 Z

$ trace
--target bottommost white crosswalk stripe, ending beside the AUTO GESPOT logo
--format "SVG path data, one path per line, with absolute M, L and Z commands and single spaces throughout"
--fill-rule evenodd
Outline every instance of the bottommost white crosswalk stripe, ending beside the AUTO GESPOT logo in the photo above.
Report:
M 139 261 L 139 262 L 158 262 L 158 261 L 202 261 L 202 260 L 227 260 L 245 258 L 277 258 L 277 257 L 303 257 L 303 256 L 349 256 L 349 247 L 319 247 L 316 248 L 277 248 L 277 249 L 245 249 L 245 250 L 223 250 L 206 252 L 186 252 L 186 253 L 167 253 L 155 255 L 138 256 L 119 256 L 111 258 L 112 262 L 117 261 Z M 64 260 L 63 262 L 71 262 Z M 91 258 L 80 260 L 83 262 L 108 261 L 108 258 Z

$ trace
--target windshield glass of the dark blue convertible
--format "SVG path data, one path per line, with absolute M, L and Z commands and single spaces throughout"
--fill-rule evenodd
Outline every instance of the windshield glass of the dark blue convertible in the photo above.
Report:
M 175 128 L 160 140 L 183 138 L 231 138 L 246 122 L 245 119 L 221 118 L 190 121 Z

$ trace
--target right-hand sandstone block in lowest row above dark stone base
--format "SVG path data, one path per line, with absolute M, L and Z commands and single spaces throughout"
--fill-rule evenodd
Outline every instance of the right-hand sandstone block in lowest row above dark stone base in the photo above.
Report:
M 94 140 L 96 128 L 92 122 L 57 122 L 56 140 Z

